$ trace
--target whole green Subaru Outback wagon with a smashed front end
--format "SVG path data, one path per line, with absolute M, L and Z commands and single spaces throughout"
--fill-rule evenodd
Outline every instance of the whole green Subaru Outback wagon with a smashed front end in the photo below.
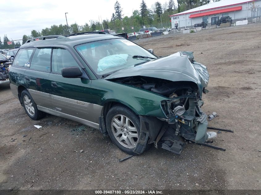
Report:
M 19 48 L 9 78 L 33 120 L 78 121 L 132 155 L 151 144 L 180 154 L 184 139 L 213 137 L 201 110 L 209 75 L 192 52 L 157 57 L 103 32 L 44 36 Z

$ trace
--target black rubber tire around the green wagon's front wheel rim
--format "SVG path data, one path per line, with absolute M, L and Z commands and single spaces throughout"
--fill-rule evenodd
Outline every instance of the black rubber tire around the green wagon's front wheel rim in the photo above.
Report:
M 118 147 L 120 148 L 120 150 L 122 150 L 123 152 L 126 152 L 130 155 L 137 155 L 137 153 L 133 152 L 134 148 L 127 148 L 124 147 L 124 145 L 122 145 L 117 139 L 116 136 L 114 135 L 116 132 L 116 128 L 114 130 L 112 130 L 112 120 L 114 117 L 116 117 L 117 115 L 124 115 L 126 117 L 128 117 L 128 119 L 132 122 L 132 124 L 134 125 L 134 127 L 137 129 L 137 133 L 138 136 L 140 136 L 140 127 L 141 127 L 141 122 L 139 117 L 128 107 L 123 106 L 123 105 L 115 105 L 113 106 L 109 112 L 107 113 L 106 116 L 106 128 L 108 131 L 108 134 L 112 140 L 112 142 Z M 120 127 L 121 128 L 121 127 Z M 122 132 L 122 134 L 119 134 L 119 137 L 124 136 L 124 132 L 125 132 L 125 128 L 123 128 L 124 131 Z M 122 130 L 123 130 L 122 129 Z M 128 129 L 127 129 L 128 130 Z M 114 131 L 114 133 L 113 133 Z M 117 131 L 117 130 L 116 130 Z M 126 135 L 126 133 L 125 133 Z M 123 140 L 124 141 L 124 140 Z M 136 141 L 137 142 L 137 141 Z M 149 145 L 146 146 L 145 150 L 147 150 L 149 148 Z M 144 150 L 144 151 L 145 151 Z

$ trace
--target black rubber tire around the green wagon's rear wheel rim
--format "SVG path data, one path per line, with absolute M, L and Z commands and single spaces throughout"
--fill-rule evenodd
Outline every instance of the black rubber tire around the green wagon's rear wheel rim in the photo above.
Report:
M 32 102 L 31 107 L 34 108 L 34 114 L 33 114 L 33 115 L 30 114 L 30 113 L 27 111 L 27 108 L 26 108 L 26 105 L 25 105 L 25 100 L 24 100 L 25 96 L 27 96 L 27 97 L 31 100 L 31 102 Z M 32 120 L 39 120 L 39 119 L 41 119 L 41 118 L 43 118 L 43 117 L 45 116 L 46 113 L 45 113 L 45 112 L 42 112 L 42 111 L 39 111 L 39 110 L 37 109 L 36 103 L 34 102 L 32 96 L 30 95 L 30 93 L 29 93 L 26 89 L 23 90 L 22 93 L 21 93 L 21 100 L 22 100 L 22 104 L 23 104 L 23 108 L 24 108 L 25 112 L 27 113 L 27 115 L 28 115 Z

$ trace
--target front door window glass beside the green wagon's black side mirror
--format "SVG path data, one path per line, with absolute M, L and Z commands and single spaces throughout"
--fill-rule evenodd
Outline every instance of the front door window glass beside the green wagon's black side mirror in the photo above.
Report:
M 73 66 L 79 67 L 69 51 L 63 48 L 53 48 L 52 72 L 61 74 L 62 68 Z

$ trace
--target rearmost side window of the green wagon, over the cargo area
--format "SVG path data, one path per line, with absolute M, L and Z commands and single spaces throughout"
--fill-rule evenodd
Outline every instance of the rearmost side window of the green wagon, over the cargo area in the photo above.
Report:
M 34 51 L 33 48 L 20 49 L 17 55 L 15 56 L 13 66 L 28 68 L 30 66 L 29 60 L 31 58 L 33 51 Z

